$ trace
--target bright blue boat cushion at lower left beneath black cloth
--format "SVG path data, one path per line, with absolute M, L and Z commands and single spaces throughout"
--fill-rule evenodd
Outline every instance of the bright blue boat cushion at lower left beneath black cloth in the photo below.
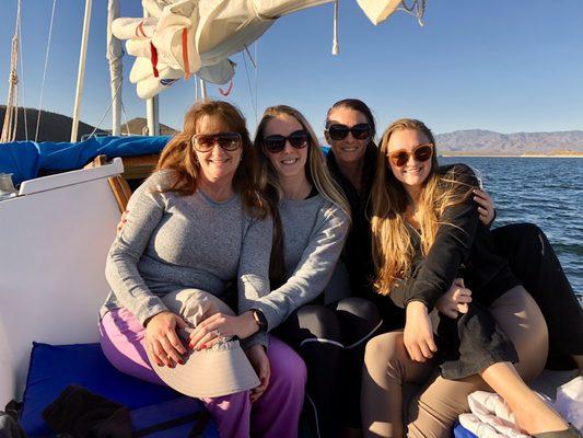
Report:
M 173 401 L 176 403 L 173 410 L 177 412 L 185 408 L 196 412 L 202 408 L 198 400 L 185 401 L 183 395 L 167 387 L 144 382 L 118 371 L 105 358 L 100 344 L 33 343 L 20 420 L 28 437 L 50 435 L 48 426 L 43 420 L 43 410 L 71 383 L 77 383 L 91 392 L 126 405 L 132 410 L 131 417 L 138 422 L 137 426 L 140 428 L 155 424 L 153 422 L 156 418 L 160 418 L 161 423 L 167 419 L 163 408 L 156 411 L 158 406 L 154 406 L 148 410 L 147 406 L 160 404 L 166 406 L 167 411 L 167 406 L 173 405 L 164 403 Z M 144 413 L 141 413 L 139 408 L 144 408 L 145 413 L 149 413 L 148 423 L 143 423 Z M 184 425 L 183 428 L 187 426 Z M 210 423 L 207 429 L 212 431 L 213 424 Z M 166 433 L 165 436 L 186 436 L 180 435 L 183 431 L 176 435 Z M 205 434 L 205 437 L 217 436 L 214 433 L 209 434 Z

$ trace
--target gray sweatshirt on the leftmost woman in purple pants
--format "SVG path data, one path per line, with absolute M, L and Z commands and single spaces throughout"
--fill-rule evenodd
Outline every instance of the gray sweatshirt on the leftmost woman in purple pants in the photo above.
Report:
M 249 217 L 238 195 L 217 203 L 201 189 L 158 193 L 168 177 L 171 171 L 154 173 L 129 200 L 127 222 L 107 255 L 112 292 L 101 315 L 125 307 L 143 324 L 166 310 L 166 293 L 196 288 L 221 297 L 235 278 L 240 312 L 255 308 L 269 292 L 271 219 Z M 264 333 L 255 338 L 267 345 Z

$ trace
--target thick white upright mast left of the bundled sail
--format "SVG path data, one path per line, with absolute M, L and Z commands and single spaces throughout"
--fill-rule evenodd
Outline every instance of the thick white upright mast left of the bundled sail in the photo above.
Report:
M 109 61 L 109 83 L 112 87 L 112 135 L 121 134 L 121 87 L 124 65 L 121 64 L 121 42 L 112 33 L 112 23 L 119 16 L 119 0 L 107 4 L 107 60 Z

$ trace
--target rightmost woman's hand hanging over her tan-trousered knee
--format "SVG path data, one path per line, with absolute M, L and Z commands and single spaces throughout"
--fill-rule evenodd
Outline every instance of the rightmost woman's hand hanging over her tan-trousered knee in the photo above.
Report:
M 407 316 L 403 342 L 409 357 L 418 362 L 431 359 L 438 346 L 433 341 L 433 327 L 429 319 L 428 309 L 421 301 L 407 304 Z

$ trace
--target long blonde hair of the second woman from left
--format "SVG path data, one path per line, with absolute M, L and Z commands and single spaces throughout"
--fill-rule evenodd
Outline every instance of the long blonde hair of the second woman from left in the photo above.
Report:
M 268 107 L 257 125 L 255 132 L 255 148 L 257 155 L 263 166 L 260 182 L 261 189 L 267 194 L 270 203 L 271 211 L 273 212 L 273 243 L 271 246 L 270 260 L 270 279 L 271 289 L 284 283 L 284 249 L 283 249 L 283 230 L 281 228 L 281 220 L 278 214 L 279 203 L 283 199 L 283 189 L 278 178 L 277 171 L 271 165 L 271 162 L 266 155 L 264 149 L 265 130 L 269 122 L 278 117 L 292 117 L 296 119 L 302 128 L 307 132 L 310 140 L 307 145 L 307 161 L 305 164 L 306 177 L 313 184 L 318 193 L 329 200 L 331 204 L 340 208 L 348 218 L 350 218 L 350 205 L 345 197 L 345 194 L 338 183 L 334 180 L 326 165 L 324 153 L 319 148 L 318 138 L 314 132 L 312 126 L 307 123 L 305 117 L 295 108 L 288 105 L 277 105 Z

